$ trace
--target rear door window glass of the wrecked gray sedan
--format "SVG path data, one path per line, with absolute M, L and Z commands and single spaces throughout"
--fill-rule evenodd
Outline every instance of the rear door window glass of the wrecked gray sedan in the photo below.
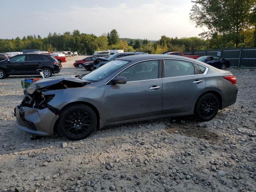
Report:
M 192 63 L 182 60 L 164 60 L 165 77 L 178 77 L 194 75 L 195 69 Z

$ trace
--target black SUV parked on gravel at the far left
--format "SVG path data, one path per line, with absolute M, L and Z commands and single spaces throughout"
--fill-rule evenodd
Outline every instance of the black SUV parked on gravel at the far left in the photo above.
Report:
M 0 62 L 0 79 L 9 75 L 34 75 L 42 69 L 45 77 L 60 72 L 58 60 L 46 54 L 20 54 Z

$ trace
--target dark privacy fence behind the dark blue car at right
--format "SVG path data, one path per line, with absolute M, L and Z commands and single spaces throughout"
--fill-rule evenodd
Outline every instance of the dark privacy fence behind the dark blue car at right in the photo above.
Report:
M 230 49 L 213 49 L 186 52 L 185 55 L 200 56 L 220 56 L 230 61 L 234 67 L 256 68 L 256 47 L 250 48 L 230 48 Z

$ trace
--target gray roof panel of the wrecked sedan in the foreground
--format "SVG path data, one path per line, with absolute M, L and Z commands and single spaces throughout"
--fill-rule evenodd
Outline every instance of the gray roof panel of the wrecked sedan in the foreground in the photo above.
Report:
M 140 61 L 140 60 L 147 60 L 147 59 L 167 59 L 167 58 L 174 58 L 174 59 L 183 59 L 183 60 L 190 60 L 195 62 L 196 60 L 183 57 L 183 56 L 176 56 L 176 55 L 164 55 L 164 54 L 140 54 L 140 55 L 132 55 L 132 56 L 125 56 L 122 58 L 118 58 L 119 60 L 128 60 L 128 61 Z M 196 61 L 197 62 L 197 61 Z

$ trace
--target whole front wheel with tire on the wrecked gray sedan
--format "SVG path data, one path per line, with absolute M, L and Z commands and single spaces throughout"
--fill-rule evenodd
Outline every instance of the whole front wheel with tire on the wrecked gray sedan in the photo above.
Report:
M 58 120 L 58 131 L 71 140 L 88 137 L 97 126 L 97 116 L 87 105 L 74 104 L 64 109 Z

